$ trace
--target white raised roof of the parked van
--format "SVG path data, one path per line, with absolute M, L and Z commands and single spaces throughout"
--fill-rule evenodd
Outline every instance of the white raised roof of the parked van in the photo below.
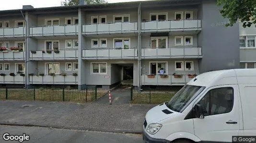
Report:
M 199 74 L 187 84 L 196 86 L 217 86 L 225 84 L 238 84 L 237 76 L 256 76 L 256 69 L 232 69 Z M 196 80 L 195 80 L 196 79 Z

